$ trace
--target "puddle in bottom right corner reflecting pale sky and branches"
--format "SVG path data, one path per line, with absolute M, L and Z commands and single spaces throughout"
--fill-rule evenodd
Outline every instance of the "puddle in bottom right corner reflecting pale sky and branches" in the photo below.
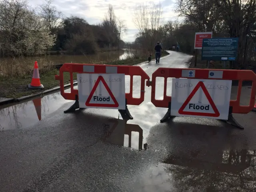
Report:
M 141 192 L 256 191 L 255 165 L 255 150 L 226 150 L 208 160 L 173 154 L 150 167 L 132 187 Z

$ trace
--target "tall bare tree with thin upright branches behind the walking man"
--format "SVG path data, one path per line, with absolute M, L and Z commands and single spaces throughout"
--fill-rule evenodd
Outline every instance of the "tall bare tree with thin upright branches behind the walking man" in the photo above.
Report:
M 134 12 L 134 24 L 144 38 L 144 47 L 152 50 L 159 38 L 159 29 L 162 25 L 161 4 L 140 4 L 136 6 Z

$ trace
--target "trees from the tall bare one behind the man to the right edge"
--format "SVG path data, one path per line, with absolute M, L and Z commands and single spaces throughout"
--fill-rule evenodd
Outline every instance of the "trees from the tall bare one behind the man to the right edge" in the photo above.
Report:
M 195 32 L 213 32 L 213 37 L 238 37 L 234 68 L 246 68 L 256 60 L 255 0 L 177 0 L 175 12 L 181 21 L 162 21 L 160 4 L 136 6 L 134 23 L 139 33 L 131 47 L 153 52 L 154 44 L 165 48 L 180 45 L 182 52 L 194 52 Z

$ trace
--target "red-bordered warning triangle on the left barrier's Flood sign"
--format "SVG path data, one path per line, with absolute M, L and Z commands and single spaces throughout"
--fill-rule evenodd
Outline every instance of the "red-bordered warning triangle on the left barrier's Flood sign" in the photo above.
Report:
M 100 84 L 100 81 L 105 86 L 108 94 L 110 95 L 110 97 L 114 101 L 114 104 L 90 103 L 90 100 L 92 99 L 92 96 L 93 96 L 94 92 L 96 91 L 96 88 Z M 95 84 L 92 88 L 92 91 L 91 91 L 90 95 L 88 96 L 88 99 L 85 102 L 85 105 L 88 106 L 88 107 L 118 107 L 119 106 L 118 102 L 116 101 L 116 98 L 114 97 L 113 93 L 111 92 L 110 88 L 108 87 L 108 84 L 106 83 L 106 81 L 104 80 L 104 78 L 102 76 L 99 76 L 98 79 L 96 80 L 96 82 L 95 82 Z

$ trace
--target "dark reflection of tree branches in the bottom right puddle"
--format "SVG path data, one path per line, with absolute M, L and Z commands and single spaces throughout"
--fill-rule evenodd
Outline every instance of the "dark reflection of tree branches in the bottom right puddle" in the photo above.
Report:
M 255 191 L 256 151 L 230 150 L 220 155 L 220 162 L 171 156 L 163 163 L 178 191 Z

